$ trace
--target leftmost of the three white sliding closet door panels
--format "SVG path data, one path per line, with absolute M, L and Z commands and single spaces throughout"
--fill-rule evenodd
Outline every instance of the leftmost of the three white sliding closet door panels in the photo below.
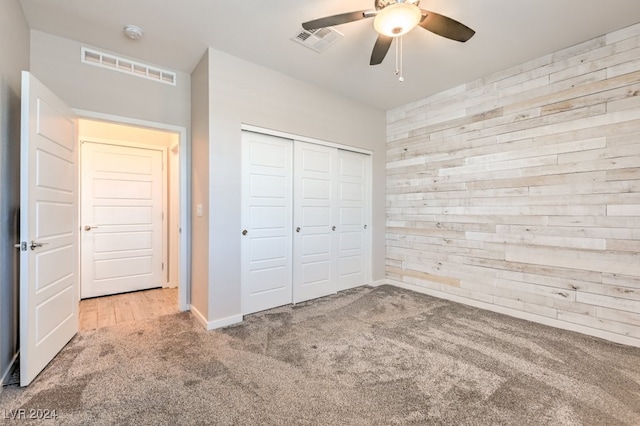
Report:
M 292 143 L 242 134 L 242 313 L 291 303 Z

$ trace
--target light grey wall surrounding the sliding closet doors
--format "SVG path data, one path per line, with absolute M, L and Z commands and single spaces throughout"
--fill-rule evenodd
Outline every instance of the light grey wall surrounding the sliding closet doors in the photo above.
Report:
M 240 140 L 243 123 L 373 151 L 373 280 L 383 279 L 384 111 L 214 49 L 209 49 L 208 54 L 209 322 L 223 325 L 237 319 L 241 312 Z M 194 251 L 197 249 L 194 247 Z

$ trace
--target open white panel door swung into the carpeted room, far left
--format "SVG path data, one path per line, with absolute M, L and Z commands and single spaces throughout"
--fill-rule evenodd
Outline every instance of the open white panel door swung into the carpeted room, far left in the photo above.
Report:
M 76 118 L 22 73 L 20 385 L 78 331 Z

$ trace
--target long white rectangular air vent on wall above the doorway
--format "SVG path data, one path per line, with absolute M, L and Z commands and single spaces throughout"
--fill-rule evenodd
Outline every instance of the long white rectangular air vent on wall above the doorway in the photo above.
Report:
M 119 58 L 109 53 L 88 49 L 86 47 L 81 49 L 80 54 L 81 60 L 85 64 L 135 75 L 137 77 L 146 78 L 159 83 L 170 84 L 172 86 L 176 85 L 176 73 L 171 71 L 145 65 L 140 62 L 130 61 L 129 59 Z

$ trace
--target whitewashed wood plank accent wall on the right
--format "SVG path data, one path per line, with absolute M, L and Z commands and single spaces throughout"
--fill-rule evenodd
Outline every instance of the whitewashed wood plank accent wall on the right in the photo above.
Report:
M 387 113 L 387 281 L 640 346 L 640 24 Z

